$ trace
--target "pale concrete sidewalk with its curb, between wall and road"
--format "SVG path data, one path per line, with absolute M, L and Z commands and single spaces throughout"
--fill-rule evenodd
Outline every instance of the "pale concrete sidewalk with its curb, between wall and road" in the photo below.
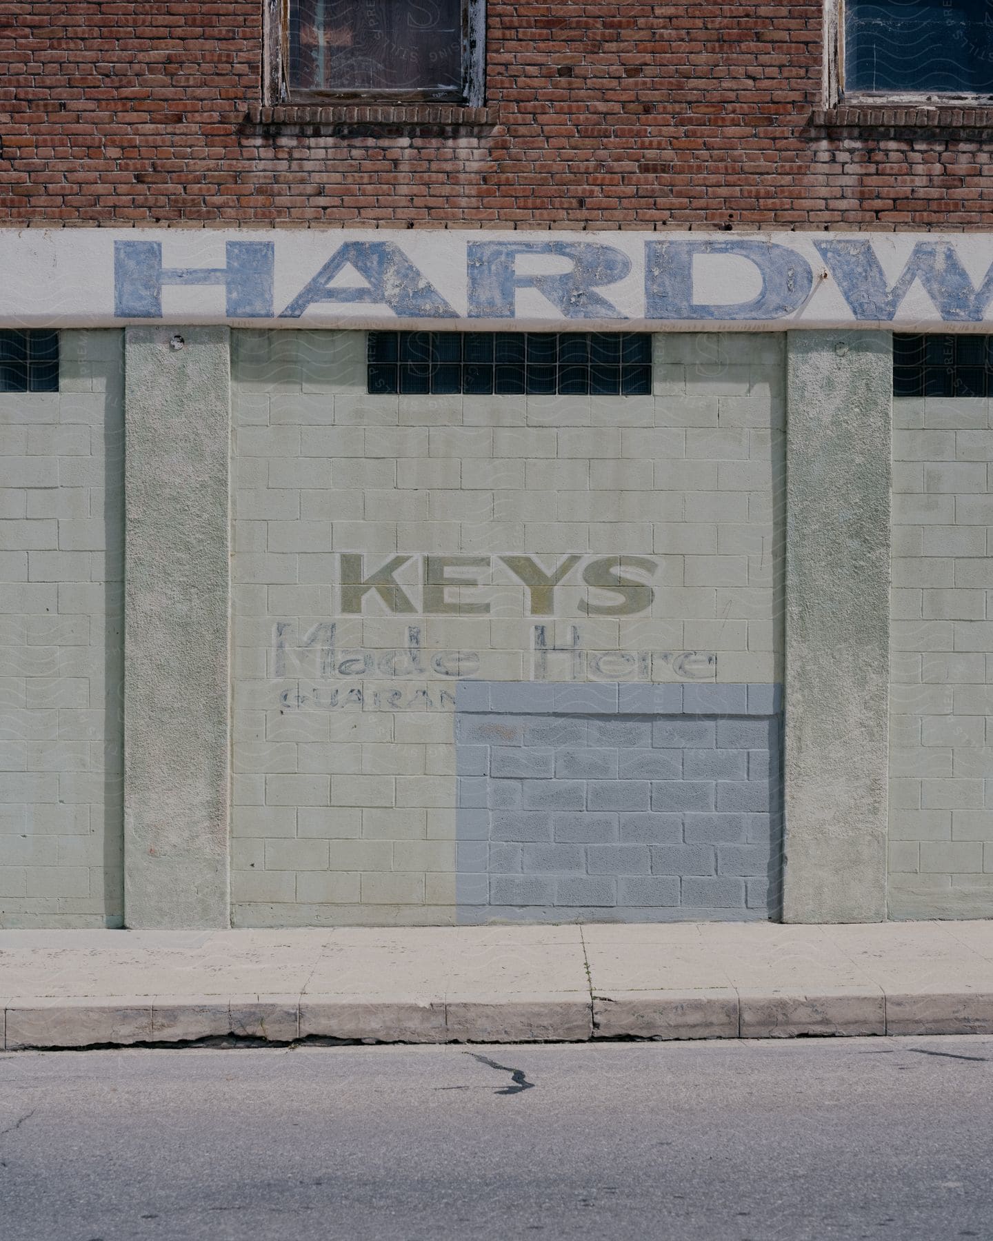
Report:
M 2 931 L 6 1050 L 993 1034 L 993 922 Z

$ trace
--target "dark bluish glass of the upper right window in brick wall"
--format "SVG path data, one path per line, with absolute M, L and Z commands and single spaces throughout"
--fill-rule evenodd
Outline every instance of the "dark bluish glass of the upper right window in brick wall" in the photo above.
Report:
M 989 0 L 845 0 L 845 91 L 993 94 Z

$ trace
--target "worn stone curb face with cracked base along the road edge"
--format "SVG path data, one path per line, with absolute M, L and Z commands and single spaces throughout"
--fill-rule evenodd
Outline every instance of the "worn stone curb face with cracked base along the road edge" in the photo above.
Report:
M 874 988 L 711 988 L 391 999 L 359 995 L 19 998 L 0 1008 L 6 1051 L 199 1039 L 273 1044 L 586 1042 L 595 1039 L 773 1039 L 803 1035 L 993 1034 L 993 994 Z

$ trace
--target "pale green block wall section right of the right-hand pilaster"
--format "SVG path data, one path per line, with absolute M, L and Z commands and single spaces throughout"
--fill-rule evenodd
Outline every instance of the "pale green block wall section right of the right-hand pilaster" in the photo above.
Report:
M 889 912 L 993 916 L 991 403 L 894 402 Z

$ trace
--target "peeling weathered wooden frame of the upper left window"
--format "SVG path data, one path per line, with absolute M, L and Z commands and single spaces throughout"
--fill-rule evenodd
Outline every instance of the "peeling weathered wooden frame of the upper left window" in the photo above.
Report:
M 289 4 L 266 0 L 263 103 L 448 103 L 480 108 L 485 102 L 487 0 L 462 0 L 462 86 L 459 91 L 292 91 L 289 84 Z

